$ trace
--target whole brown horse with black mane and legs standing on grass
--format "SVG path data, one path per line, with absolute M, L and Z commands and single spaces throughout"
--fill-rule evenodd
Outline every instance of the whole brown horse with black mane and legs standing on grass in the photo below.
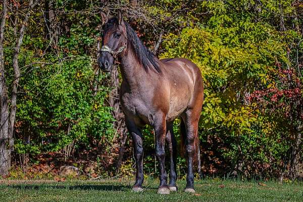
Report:
M 129 24 L 124 22 L 120 11 L 118 18 L 106 21 L 98 65 L 103 71 L 109 72 L 114 60 L 121 63 L 120 102 L 133 139 L 136 160 L 136 182 L 132 189 L 143 190 L 141 128 L 148 124 L 154 127 L 156 135 L 156 156 L 160 166 L 158 193 L 167 194 L 177 190 L 177 146 L 173 121 L 181 117 L 181 142 L 184 142 L 188 169 L 185 191 L 194 192 L 193 160 L 197 157 L 197 128 L 204 99 L 199 68 L 184 58 L 158 60 Z M 164 165 L 165 141 L 170 151 L 168 185 Z

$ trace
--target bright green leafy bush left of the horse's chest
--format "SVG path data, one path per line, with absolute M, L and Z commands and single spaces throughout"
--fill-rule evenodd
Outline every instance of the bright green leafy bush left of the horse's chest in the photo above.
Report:
M 114 119 L 111 109 L 104 105 L 109 87 L 102 86 L 93 95 L 91 63 L 87 57 L 73 57 L 40 65 L 22 78 L 17 118 L 23 133 L 18 134 L 15 145 L 18 153 L 59 151 L 73 140 L 76 145 L 89 145 L 89 137 L 113 138 Z

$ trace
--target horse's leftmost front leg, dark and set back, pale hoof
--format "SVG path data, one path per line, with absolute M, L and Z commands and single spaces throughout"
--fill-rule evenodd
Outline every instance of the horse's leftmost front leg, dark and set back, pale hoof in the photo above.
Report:
M 143 142 L 141 129 L 135 125 L 133 121 L 125 120 L 126 127 L 132 137 L 134 146 L 134 156 L 136 160 L 136 182 L 132 188 L 133 191 L 143 191 L 142 183 L 143 175 Z

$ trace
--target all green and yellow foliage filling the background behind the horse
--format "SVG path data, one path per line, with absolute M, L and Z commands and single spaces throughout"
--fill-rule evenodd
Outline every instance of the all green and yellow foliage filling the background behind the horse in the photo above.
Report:
M 205 102 L 198 132 L 203 173 L 236 171 L 252 177 L 284 172 L 294 142 L 290 125 L 302 121 L 296 116 L 296 120 L 285 121 L 278 115 L 282 108 L 275 114 L 263 113 L 258 103 L 249 102 L 247 97 L 256 90 L 284 89 L 273 76 L 278 67 L 294 69 L 302 80 L 303 6 L 299 1 L 156 0 L 140 2 L 136 7 L 129 1 L 106 2 L 50 1 L 56 12 L 53 27 L 49 27 L 54 29 L 52 40 L 44 22 L 47 12 L 42 12 L 43 4 L 42 10 L 35 8 L 31 13 L 19 56 L 22 76 L 17 94 L 15 154 L 30 154 L 33 159 L 49 151 L 61 153 L 75 144 L 79 156 L 97 150 L 96 164 L 92 165 L 98 169 L 92 170 L 115 170 L 112 165 L 119 152 L 119 137 L 107 103 L 111 88 L 107 74 L 96 76 L 95 59 L 96 39 L 102 29 L 100 10 L 115 15 L 115 9 L 122 8 L 125 19 L 147 47 L 153 48 L 164 30 L 160 57 L 184 57 L 201 70 Z M 19 11 L 9 14 L 12 18 L 5 32 L 9 88 L 14 79 L 13 23 L 15 16 L 23 17 Z M 18 28 L 21 20 L 16 22 Z M 97 92 L 93 90 L 96 84 Z M 174 123 L 174 132 L 179 143 L 179 120 Z M 146 127 L 143 133 L 144 172 L 157 174 L 153 131 Z M 123 175 L 133 174 L 131 146 L 126 143 Z M 166 160 L 168 169 L 168 152 Z M 182 157 L 177 160 L 177 173 L 180 178 L 186 173 Z M 106 171 L 102 173 L 107 175 Z

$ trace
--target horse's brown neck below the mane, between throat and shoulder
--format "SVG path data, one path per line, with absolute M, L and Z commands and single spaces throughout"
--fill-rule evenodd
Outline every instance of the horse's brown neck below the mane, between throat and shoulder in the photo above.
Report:
M 120 65 L 122 79 L 129 85 L 130 88 L 138 88 L 144 85 L 143 81 L 147 74 L 135 58 L 132 50 L 125 54 Z

